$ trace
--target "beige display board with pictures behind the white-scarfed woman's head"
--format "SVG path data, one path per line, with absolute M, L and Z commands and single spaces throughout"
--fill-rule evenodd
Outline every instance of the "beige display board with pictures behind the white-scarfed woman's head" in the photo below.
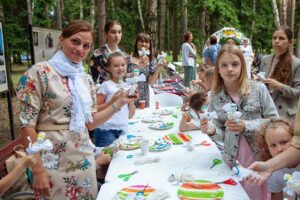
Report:
M 35 63 L 48 60 L 56 51 L 61 30 L 32 27 Z

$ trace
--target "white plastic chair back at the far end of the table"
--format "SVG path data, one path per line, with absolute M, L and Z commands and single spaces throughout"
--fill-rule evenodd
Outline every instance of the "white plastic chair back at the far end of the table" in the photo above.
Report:
M 182 106 L 183 100 L 181 96 L 171 93 L 159 93 L 155 95 L 156 101 L 160 106 Z

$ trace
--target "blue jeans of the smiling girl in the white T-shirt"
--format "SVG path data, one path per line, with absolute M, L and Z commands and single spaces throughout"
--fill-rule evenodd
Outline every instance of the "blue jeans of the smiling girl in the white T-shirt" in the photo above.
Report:
M 106 147 L 113 143 L 122 134 L 122 130 L 103 130 L 96 128 L 94 130 L 94 139 L 96 147 Z

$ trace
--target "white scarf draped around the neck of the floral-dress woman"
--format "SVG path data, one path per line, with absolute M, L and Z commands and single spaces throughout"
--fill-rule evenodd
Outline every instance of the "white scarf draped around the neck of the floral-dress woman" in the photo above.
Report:
M 82 62 L 74 64 L 59 50 L 49 60 L 51 66 L 62 76 L 68 77 L 68 85 L 72 94 L 71 133 L 82 133 L 85 123 L 92 122 L 92 97 L 84 79 L 86 73 Z

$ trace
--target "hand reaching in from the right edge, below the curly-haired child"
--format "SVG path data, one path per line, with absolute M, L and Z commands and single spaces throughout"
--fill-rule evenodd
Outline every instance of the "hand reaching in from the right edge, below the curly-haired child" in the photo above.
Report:
M 250 176 L 250 177 L 245 178 L 245 181 L 248 184 L 252 184 L 252 185 L 261 185 L 272 174 L 271 168 L 267 164 L 267 162 L 254 162 L 248 167 L 248 169 L 251 169 L 251 170 L 257 172 L 261 176 L 261 178 L 255 177 L 255 176 Z

